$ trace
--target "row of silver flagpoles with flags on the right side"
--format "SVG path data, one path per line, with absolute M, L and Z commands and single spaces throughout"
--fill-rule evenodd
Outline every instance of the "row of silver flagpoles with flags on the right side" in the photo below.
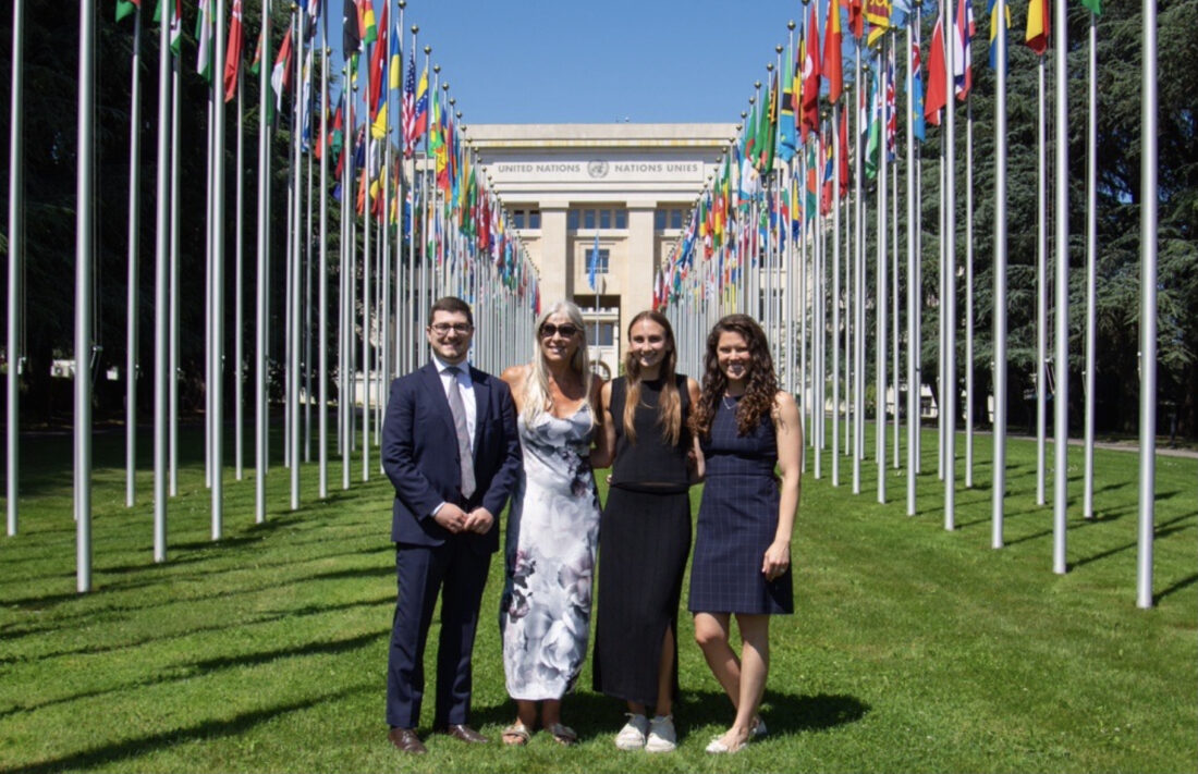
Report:
M 1084 371 L 1084 495 L 1083 515 L 1094 516 L 1094 371 L 1095 371 L 1095 260 L 1096 260 L 1096 62 L 1095 17 L 1101 0 L 1078 0 L 1090 16 L 1088 65 L 1088 186 L 1087 186 L 1087 309 Z M 860 492 L 860 466 L 866 459 L 865 385 L 867 340 L 873 353 L 873 460 L 877 465 L 877 501 L 887 501 L 888 437 L 890 464 L 901 470 L 902 412 L 898 400 L 907 391 L 906 506 L 915 514 L 920 470 L 920 387 L 937 387 L 937 477 L 943 482 L 944 527 L 952 530 L 956 516 L 957 416 L 956 401 L 964 392 L 964 485 L 974 484 L 974 151 L 972 42 L 976 34 L 973 0 L 939 4 L 931 41 L 921 37 L 921 8 L 909 0 L 804 0 L 806 19 L 789 23 L 791 42 L 782 58 L 767 66 L 768 85 L 749 98 L 740 114 L 739 137 L 725 150 L 718 171 L 695 204 L 689 225 L 657 276 L 654 303 L 664 308 L 679 328 L 680 357 L 689 368 L 702 359 L 703 333 L 721 315 L 745 312 L 766 323 L 781 364 L 787 388 L 801 395 L 809 428 L 810 462 L 822 478 L 823 453 L 830 446 L 830 478 L 841 484 L 842 456 L 852 459 L 852 486 Z M 993 476 L 992 546 L 1004 544 L 1003 516 L 1006 498 L 1006 61 L 1011 12 L 1005 0 L 988 0 L 990 65 L 996 71 L 994 105 L 994 234 L 993 234 Z M 1152 13 L 1150 14 L 1150 6 Z M 842 14 L 842 7 L 845 13 Z M 1051 19 L 1053 19 L 1051 22 Z M 822 20 L 822 32 L 821 32 Z M 1004 23 L 1005 20 L 1005 23 Z M 843 23 L 852 41 L 842 41 Z M 795 37 L 795 28 L 799 26 Z M 1054 29 L 1052 29 L 1054 28 Z M 1053 570 L 1067 572 L 1067 363 L 1069 363 L 1069 187 L 1067 187 L 1067 85 L 1066 6 L 1060 0 L 1051 16 L 1049 0 L 1028 2 L 1025 43 L 1039 55 L 1039 206 L 1036 289 L 1037 298 L 1037 503 L 1045 504 L 1046 403 L 1049 385 L 1047 364 L 1059 369 L 1054 393 L 1053 462 Z M 1144 189 L 1155 191 L 1155 143 L 1150 131 L 1156 115 L 1155 80 L 1148 73 L 1155 62 L 1155 4 L 1144 2 Z M 948 31 L 948 34 L 945 32 Z M 822 38 L 822 56 L 821 56 Z M 1045 59 L 1055 43 L 1055 97 L 1045 93 Z M 843 52 L 852 56 L 854 78 L 845 83 Z M 904 62 L 904 64 L 903 64 Z M 900 67 L 902 73 L 900 75 Z M 902 78 L 900 83 L 898 79 Z M 1150 83 L 1151 81 L 1151 83 Z M 1077 83 L 1077 81 L 1075 81 Z M 926 84 L 926 90 L 925 90 Z M 1149 87 L 1151 86 L 1151 87 Z M 896 92 L 906 93 L 904 163 L 898 153 Z M 954 98 L 966 113 L 964 223 L 958 224 L 956 168 L 957 119 Z M 857 110 L 847 95 L 857 96 Z M 1047 240 L 1047 169 L 1045 163 L 1045 110 L 1055 107 L 1054 204 L 1055 280 L 1048 283 L 1051 254 Z M 849 114 L 855 117 L 849 132 Z M 1149 115 L 1154 123 L 1149 122 Z M 922 279 L 922 163 L 921 147 L 927 125 L 938 127 L 939 185 L 937 290 L 930 298 Z M 1152 175 L 1149 185 L 1149 175 Z M 906 217 L 898 214 L 900 177 L 904 179 Z M 852 195 L 849 195 L 852 187 Z M 872 192 L 867 191 L 872 188 Z M 1145 201 L 1155 202 L 1154 196 Z M 875 236 L 867 238 L 872 213 Z M 1156 425 L 1156 220 L 1145 207 L 1142 284 L 1142 409 L 1139 564 L 1137 604 L 1151 606 L 1152 458 Z M 900 228 L 906 228 L 900 246 Z M 963 231 L 966 255 L 957 255 Z M 870 248 L 872 247 L 872 252 Z M 904 277 L 900 268 L 906 260 Z M 867 267 L 872 261 L 873 282 Z M 956 284 L 964 282 L 964 319 L 956 302 Z M 906 290 L 906 331 L 900 331 L 900 297 Z M 1054 288 L 1055 351 L 1047 347 L 1047 300 Z M 938 362 L 934 376 L 921 362 L 921 329 L 925 304 L 938 307 L 939 329 L 934 334 Z M 873 313 L 872 332 L 866 327 Z M 829 319 L 830 313 L 830 319 Z M 870 335 L 872 333 L 872 335 Z M 963 339 L 964 363 L 956 362 Z M 906 373 L 901 364 L 906 356 Z M 842 358 L 843 356 L 843 358 Z M 829 363 L 830 357 L 830 363 Z M 889 379 L 888 379 L 889 376 Z M 841 381 L 843 380 L 843 382 Z M 827 394 L 830 382 L 831 394 Z M 893 403 L 888 404 L 887 395 Z M 889 415 L 889 417 L 888 417 Z M 841 448 L 841 430 L 843 447 Z

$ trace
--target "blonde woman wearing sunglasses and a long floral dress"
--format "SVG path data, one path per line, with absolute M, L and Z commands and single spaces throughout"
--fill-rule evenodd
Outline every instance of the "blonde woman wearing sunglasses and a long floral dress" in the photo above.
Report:
M 540 726 L 562 744 L 562 696 L 587 653 L 599 495 L 592 441 L 605 447 L 600 381 L 588 368 L 582 314 L 553 304 L 537 322 L 537 356 L 503 373 L 519 415 L 524 470 L 508 516 L 507 582 L 500 603 L 503 669 L 516 721 L 503 740 L 522 745 Z M 595 452 L 606 456 L 603 448 Z

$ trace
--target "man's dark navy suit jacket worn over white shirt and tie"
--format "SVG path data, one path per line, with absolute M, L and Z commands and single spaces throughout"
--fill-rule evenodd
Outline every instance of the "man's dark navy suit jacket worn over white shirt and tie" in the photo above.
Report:
M 391 539 L 409 545 L 441 545 L 450 533 L 430 515 L 442 502 L 470 512 L 482 506 L 495 516 L 486 534 L 470 533 L 476 550 L 500 548 L 500 512 L 520 474 L 520 437 L 515 404 L 507 383 L 476 368 L 474 482 L 461 497 L 458 435 L 441 375 L 432 363 L 392 382 L 382 431 L 382 464 L 395 488 Z

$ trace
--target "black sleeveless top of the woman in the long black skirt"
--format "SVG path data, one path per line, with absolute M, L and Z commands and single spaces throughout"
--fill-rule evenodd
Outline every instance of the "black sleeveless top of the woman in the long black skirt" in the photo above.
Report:
M 624 404 L 628 399 L 628 377 L 619 376 L 611 382 L 611 419 L 616 428 L 616 459 L 611 466 L 611 485 L 635 491 L 673 494 L 690 488 L 686 471 L 686 454 L 691 448 L 690 392 L 686 376 L 674 375 L 682 410 L 682 428 L 678 443 L 670 446 L 662 437 L 664 429 L 658 421 L 658 401 L 661 398 L 661 380 L 641 381 L 641 399 L 633 417 L 636 443 L 624 435 Z

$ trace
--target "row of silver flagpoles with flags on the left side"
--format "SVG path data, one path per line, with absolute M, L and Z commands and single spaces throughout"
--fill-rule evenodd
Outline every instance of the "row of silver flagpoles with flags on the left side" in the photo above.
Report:
M 140 365 L 138 288 L 141 167 L 141 52 L 144 14 L 149 2 L 117 0 L 116 18 L 132 16 L 133 67 L 129 131 L 129 223 L 126 400 L 126 504 L 135 504 L 137 374 Z M 165 5 L 165 8 L 163 7 Z M 413 369 L 428 357 L 423 337 L 429 307 L 438 296 L 458 295 L 474 307 L 478 326 L 474 361 L 482 368 L 502 364 L 507 353 L 531 337 L 540 298 L 536 272 L 519 235 L 496 193 L 482 174 L 476 153 L 464 135 L 461 113 L 440 81 L 431 48 L 424 46 L 424 65 L 417 78 L 418 28 L 410 28 L 405 59 L 406 0 L 345 0 L 341 19 L 343 67 L 339 79 L 329 71 L 327 8 L 321 0 L 288 5 L 288 26 L 272 30 L 278 16 L 272 0 L 261 0 L 258 49 L 248 67 L 259 79 L 258 219 L 253 267 L 254 321 L 247 325 L 243 296 L 246 266 L 246 115 L 253 107 L 247 95 L 243 0 L 199 0 L 195 26 L 195 72 L 207 81 L 206 212 L 202 216 L 205 254 L 205 468 L 211 497 L 211 534 L 224 528 L 224 474 L 226 446 L 225 379 L 234 386 L 234 474 L 244 473 L 246 413 L 253 415 L 255 520 L 266 519 L 266 478 L 270 467 L 271 364 L 279 361 L 284 374 L 283 461 L 290 471 L 289 507 L 300 507 L 301 459 L 319 460 L 319 496 L 328 495 L 329 452 L 341 456 L 341 486 L 350 486 L 351 468 L 361 464 L 363 480 L 379 470 L 370 449 L 379 443 L 389 380 Z M 282 8 L 280 8 L 282 10 Z M 379 11 L 376 14 L 376 10 Z M 179 321 L 180 307 L 199 295 L 180 295 L 180 101 L 182 98 L 181 0 L 159 0 L 158 114 L 155 201 L 153 292 L 153 558 L 167 560 L 167 514 L 177 495 L 179 470 Z M 95 0 L 80 2 L 79 40 L 79 170 L 77 208 L 75 285 L 75 399 L 74 399 L 74 518 L 77 521 L 77 587 L 91 588 L 91 389 L 89 367 L 96 352 L 92 320 L 92 266 L 95 217 Z M 165 17 L 165 20 L 163 20 Z M 18 531 L 19 368 L 22 314 L 19 300 L 23 253 L 22 40 L 24 0 L 13 5 L 13 90 L 10 179 L 8 266 L 8 423 L 7 423 L 7 531 Z M 282 37 L 273 67 L 274 40 Z M 319 72 L 317 72 L 319 62 Z M 222 73 L 223 77 L 217 73 Z M 337 80 L 337 83 L 334 83 Z M 335 107 L 334 86 L 340 86 Z M 235 115 L 230 120 L 228 111 Z M 226 128 L 235 135 L 235 213 L 232 234 L 226 229 L 224 202 L 228 187 Z M 286 133 L 278 132 L 285 126 Z M 273 201 L 277 186 L 272 155 L 286 147 L 286 198 Z M 329 165 L 334 164 L 333 169 Z M 333 201 L 331 201 L 331 199 Z M 333 210 L 333 206 L 338 210 Z M 280 206 L 283 205 L 283 206 Z M 339 212 L 333 231 L 332 212 Z M 286 223 L 286 238 L 277 244 L 272 224 Z M 328 255 L 331 244 L 339 254 Z M 256 249 L 254 249 L 256 247 Z M 231 266 L 232 332 L 225 288 Z M 334 265 L 331 262 L 335 261 Z M 282 271 L 280 271 L 282 270 Z M 282 277 L 279 276 L 282 274 Z M 329 276 L 339 278 L 337 300 Z M 282 280 L 282 282 L 280 282 Z M 284 308 L 271 310 L 273 295 Z M 335 318 L 333 316 L 335 313 Z M 316 318 L 315 321 L 313 318 Z M 283 331 L 274 331 L 282 318 Z M 243 351 L 249 327 L 252 352 Z M 272 350 L 272 337 L 282 334 L 282 351 Z M 232 339 L 231 374 L 226 376 L 225 345 Z M 332 351 L 331 351 L 332 350 Z M 329 356 L 335 351 L 335 367 Z M 315 358 L 315 362 L 314 362 Z M 248 371 L 247 373 L 247 364 Z M 335 399 L 329 377 L 334 377 Z M 253 380 L 253 395 L 243 383 Z M 361 404 L 361 411 L 355 404 Z M 335 404 L 335 430 L 329 434 L 328 406 Z M 315 407 L 316 430 L 311 413 Z M 361 427 L 357 427 L 361 424 Z M 361 433 L 361 435 L 358 435 Z M 335 436 L 335 437 L 331 437 Z

